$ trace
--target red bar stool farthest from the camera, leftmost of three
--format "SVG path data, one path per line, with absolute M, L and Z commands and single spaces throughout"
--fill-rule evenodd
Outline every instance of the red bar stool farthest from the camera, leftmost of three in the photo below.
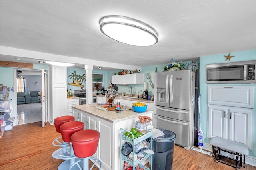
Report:
M 63 123 L 66 122 L 70 122 L 70 121 L 75 121 L 75 117 L 74 116 L 60 116 L 54 119 L 54 125 L 56 128 L 56 132 L 60 133 L 60 125 L 62 125 Z M 70 148 L 68 147 L 70 145 L 70 143 L 64 142 L 63 140 L 61 140 L 62 137 L 56 138 L 52 141 L 53 146 L 57 146 L 57 147 L 62 147 L 62 148 L 66 148 L 63 150 L 62 154 L 68 154 L 68 152 L 70 151 Z M 58 144 L 55 144 L 58 143 Z M 52 157 L 55 159 L 60 159 L 58 157 L 58 152 L 60 152 L 60 150 L 62 150 L 62 148 L 59 148 L 57 150 L 55 150 L 52 153 Z

